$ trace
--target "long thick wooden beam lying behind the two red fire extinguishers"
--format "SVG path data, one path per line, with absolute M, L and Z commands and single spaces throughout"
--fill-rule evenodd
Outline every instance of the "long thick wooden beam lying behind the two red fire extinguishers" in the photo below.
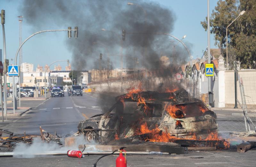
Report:
M 121 146 L 116 146 L 116 145 L 85 145 L 85 150 L 84 151 L 114 151 L 118 150 L 121 147 L 126 147 L 126 151 L 139 151 L 139 152 L 151 152 L 151 151 L 156 151 L 156 152 L 167 152 L 167 153 L 175 153 L 175 154 L 186 154 L 188 153 L 188 148 L 187 147 L 180 147 L 180 146 L 173 146 L 173 145 L 157 145 L 157 144 L 130 144 L 130 145 L 121 145 Z M 78 146 L 79 150 L 84 149 L 84 145 L 79 145 Z

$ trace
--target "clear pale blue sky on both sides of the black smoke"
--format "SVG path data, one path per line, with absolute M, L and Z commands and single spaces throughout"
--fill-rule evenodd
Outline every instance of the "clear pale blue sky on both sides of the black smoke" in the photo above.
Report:
M 187 35 L 183 40 L 193 45 L 191 48 L 193 57 L 202 57 L 202 50 L 207 47 L 207 32 L 201 26 L 200 21 L 203 21 L 207 15 L 207 0 L 158 0 L 155 2 L 171 9 L 175 13 L 176 22 L 172 35 L 180 39 Z M 210 15 L 217 2 L 218 0 L 210 0 Z M 21 4 L 22 0 L 1 1 L 1 9 L 5 10 L 6 55 L 10 63 L 14 62 L 11 59 L 14 59 L 19 47 L 19 21 L 17 16 L 22 15 L 19 10 Z M 26 18 L 23 20 L 22 40 L 25 40 L 35 31 L 26 23 Z M 59 28 L 62 29 L 63 27 L 56 27 L 56 29 Z M 3 49 L 2 28 L 0 29 L 0 49 Z M 38 31 L 40 30 L 43 29 L 38 29 Z M 33 63 L 36 67 L 37 64 L 44 66 L 57 60 L 72 60 L 72 52 L 68 50 L 65 43 L 66 38 L 67 32 L 37 34 L 23 45 L 23 62 Z M 214 36 L 211 34 L 211 48 L 216 48 L 214 42 Z M 60 65 L 64 70 L 67 64 L 63 62 Z M 51 69 L 53 67 L 52 65 Z

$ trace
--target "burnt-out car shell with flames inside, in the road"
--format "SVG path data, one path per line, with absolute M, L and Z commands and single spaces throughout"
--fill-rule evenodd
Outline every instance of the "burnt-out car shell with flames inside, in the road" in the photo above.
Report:
M 131 110 L 125 102 L 136 107 Z M 124 112 L 127 108 L 128 112 Z M 142 123 L 146 132 L 157 128 L 160 133 L 182 139 L 206 139 L 209 133 L 217 133 L 216 114 L 202 101 L 189 99 L 188 92 L 138 92 L 116 97 L 116 103 L 105 113 L 98 114 L 78 124 L 78 131 L 88 141 L 108 143 L 138 134 Z M 99 133 L 100 129 L 100 133 Z

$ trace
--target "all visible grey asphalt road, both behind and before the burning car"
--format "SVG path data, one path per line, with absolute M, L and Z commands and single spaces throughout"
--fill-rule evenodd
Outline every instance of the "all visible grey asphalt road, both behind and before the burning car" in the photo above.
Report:
M 4 129 L 17 133 L 39 134 L 39 126 L 49 132 L 58 134 L 72 134 L 77 131 L 80 120 L 101 113 L 97 95 L 83 94 L 83 96 L 65 96 L 49 98 L 24 114 L 4 124 Z M 28 102 L 32 104 L 33 102 Z M 234 110 L 215 110 L 218 124 L 225 125 Z M 240 118 L 240 117 L 239 117 Z M 242 117 L 241 117 L 242 119 Z M 2 150 L 1 150 L 2 151 Z M 4 150 L 3 150 L 4 151 Z M 189 151 L 186 155 L 126 155 L 127 166 L 255 166 L 256 150 L 237 153 L 235 150 L 217 151 Z M 68 156 L 37 156 L 35 158 L 0 157 L 0 166 L 93 166 L 99 155 L 79 158 Z M 101 159 L 98 166 L 115 166 L 117 155 Z

